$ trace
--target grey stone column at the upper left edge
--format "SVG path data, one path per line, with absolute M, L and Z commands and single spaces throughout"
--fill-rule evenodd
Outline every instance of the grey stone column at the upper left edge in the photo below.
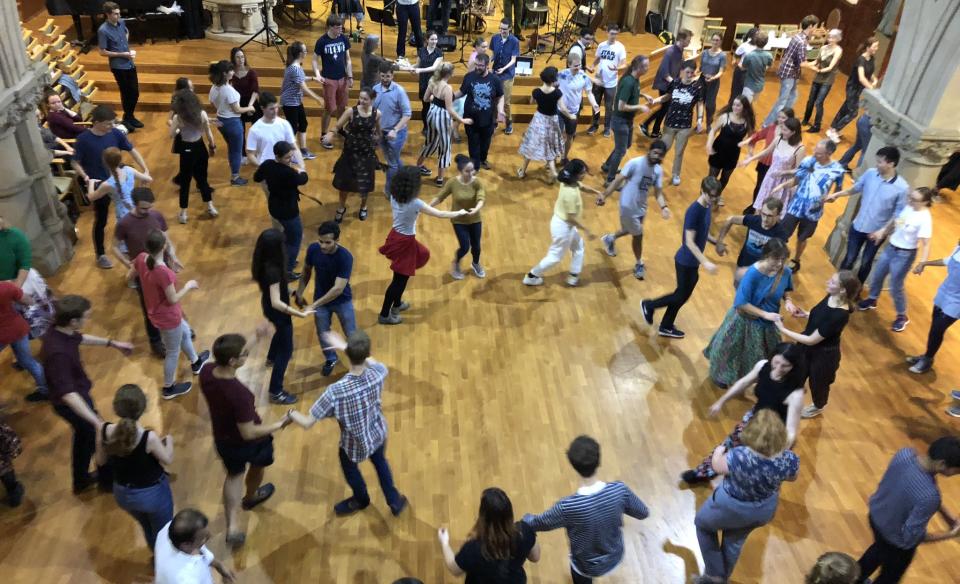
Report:
M 73 256 L 73 229 L 50 177 L 35 115 L 47 66 L 27 58 L 14 0 L 0 0 L 0 215 L 18 227 L 33 247 L 33 264 L 44 275 Z

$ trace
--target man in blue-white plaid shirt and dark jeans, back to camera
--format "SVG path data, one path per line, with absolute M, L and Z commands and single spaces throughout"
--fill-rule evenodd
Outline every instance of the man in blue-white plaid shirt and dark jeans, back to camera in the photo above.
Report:
M 327 333 L 323 338 L 330 348 L 346 351 L 350 371 L 327 387 L 310 408 L 309 416 L 291 410 L 290 417 L 304 428 L 324 418 L 336 418 L 340 424 L 340 467 L 353 489 L 353 496 L 334 506 L 338 516 L 356 513 L 370 505 L 367 484 L 358 468 L 368 458 L 377 470 L 390 511 L 394 516 L 400 515 L 407 506 L 407 498 L 393 484 L 386 458 L 387 421 L 380 404 L 387 366 L 370 357 L 370 337 L 363 331 L 354 331 L 346 341 L 336 333 Z

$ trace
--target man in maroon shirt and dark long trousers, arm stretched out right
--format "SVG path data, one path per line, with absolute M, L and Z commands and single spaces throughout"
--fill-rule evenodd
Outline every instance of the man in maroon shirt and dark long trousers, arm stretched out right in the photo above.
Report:
M 113 347 L 124 355 L 133 351 L 133 345 L 81 333 L 91 312 L 90 301 L 83 296 L 64 296 L 56 307 L 53 327 L 43 336 L 42 361 L 50 403 L 73 428 L 73 492 L 80 493 L 98 481 L 109 489 L 109 473 L 90 473 L 90 459 L 103 419 L 90 397 L 93 383 L 83 369 L 80 345 Z

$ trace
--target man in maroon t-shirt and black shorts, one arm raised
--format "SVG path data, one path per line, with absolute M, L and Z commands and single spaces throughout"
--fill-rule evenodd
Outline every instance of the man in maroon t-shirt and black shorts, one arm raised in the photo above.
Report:
M 213 343 L 216 366 L 200 370 L 200 390 L 210 409 L 213 442 L 227 469 L 223 483 L 223 507 L 227 520 L 227 543 L 241 546 L 246 534 L 237 528 L 241 506 L 250 510 L 269 499 L 276 488 L 263 484 L 264 469 L 273 464 L 274 432 L 287 427 L 289 414 L 272 424 L 263 424 L 256 399 L 237 379 L 253 347 L 273 334 L 269 324 L 257 328 L 248 342 L 243 335 L 227 334 Z M 249 470 L 247 469 L 249 465 Z M 241 498 L 246 483 L 246 496 Z

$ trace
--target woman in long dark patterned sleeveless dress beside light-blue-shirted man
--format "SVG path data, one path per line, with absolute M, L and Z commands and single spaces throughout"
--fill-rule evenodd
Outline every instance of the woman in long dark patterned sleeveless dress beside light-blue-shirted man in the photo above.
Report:
M 343 221 L 347 212 L 347 195 L 360 193 L 360 211 L 357 217 L 367 218 L 367 195 L 376 184 L 377 136 L 380 135 L 380 112 L 373 107 L 373 90 L 360 90 L 357 105 L 343 112 L 337 127 L 327 132 L 323 141 L 329 143 L 336 132 L 343 134 L 343 153 L 333 165 L 333 188 L 340 191 L 340 206 L 334 220 Z

